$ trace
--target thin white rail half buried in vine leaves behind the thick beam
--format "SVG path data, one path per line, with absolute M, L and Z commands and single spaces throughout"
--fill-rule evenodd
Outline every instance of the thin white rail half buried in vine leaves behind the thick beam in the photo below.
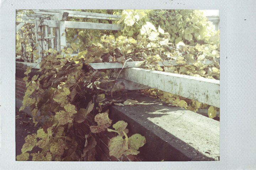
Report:
M 124 68 L 132 68 L 132 67 L 140 67 L 139 64 L 142 61 L 128 61 L 126 62 Z M 206 60 L 201 61 L 202 64 L 212 64 L 212 61 Z M 110 69 L 110 68 L 123 68 L 123 64 L 121 63 L 89 63 L 93 69 Z M 163 61 L 158 63 L 159 66 L 177 66 L 176 60 L 173 61 Z M 188 65 L 192 65 L 193 62 L 187 62 Z

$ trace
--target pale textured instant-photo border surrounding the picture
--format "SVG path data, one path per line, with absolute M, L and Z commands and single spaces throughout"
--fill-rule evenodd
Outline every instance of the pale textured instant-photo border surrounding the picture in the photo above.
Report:
M 220 10 L 220 161 L 15 161 L 15 11 L 18 9 Z M 2 0 L 0 2 L 0 169 L 256 168 L 255 0 Z

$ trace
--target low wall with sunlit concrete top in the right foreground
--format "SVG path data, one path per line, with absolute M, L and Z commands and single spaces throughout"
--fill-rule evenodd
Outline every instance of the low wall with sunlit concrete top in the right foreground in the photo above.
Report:
M 131 97 L 141 104 L 111 106 L 110 118 L 146 137 L 139 150 L 146 161 L 219 160 L 219 121 L 154 98 Z

